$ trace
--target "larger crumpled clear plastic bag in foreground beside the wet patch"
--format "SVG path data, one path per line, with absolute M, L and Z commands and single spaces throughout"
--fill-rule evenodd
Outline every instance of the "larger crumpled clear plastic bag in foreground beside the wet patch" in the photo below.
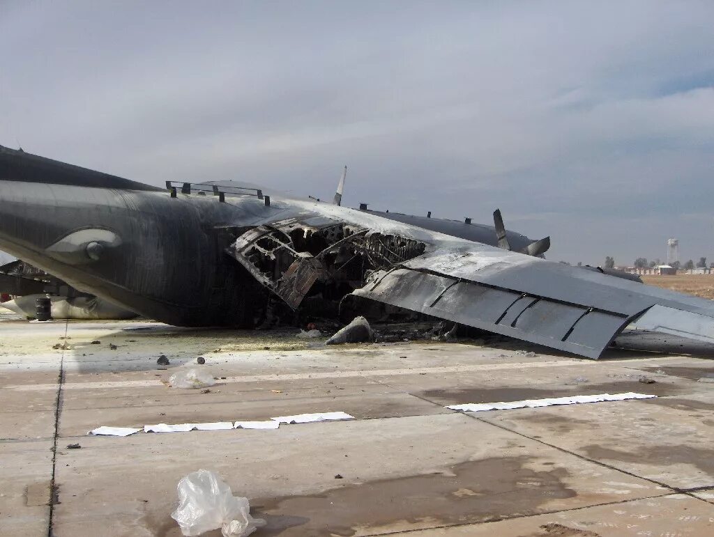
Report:
M 171 518 L 186 537 L 217 528 L 221 528 L 223 537 L 246 537 L 266 524 L 248 512 L 248 498 L 233 496 L 231 487 L 212 471 L 198 470 L 184 476 L 177 489 L 178 507 Z

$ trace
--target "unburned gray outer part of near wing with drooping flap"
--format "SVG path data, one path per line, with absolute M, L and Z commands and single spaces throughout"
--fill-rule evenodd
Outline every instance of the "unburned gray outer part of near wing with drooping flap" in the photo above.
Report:
M 352 295 L 598 358 L 638 327 L 714 342 L 708 300 L 478 245 L 427 253 L 371 275 Z

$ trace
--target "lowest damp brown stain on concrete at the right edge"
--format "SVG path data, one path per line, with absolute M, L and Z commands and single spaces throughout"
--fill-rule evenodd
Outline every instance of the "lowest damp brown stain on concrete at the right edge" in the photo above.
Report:
M 590 444 L 583 451 L 595 461 L 620 461 L 627 464 L 651 464 L 666 467 L 671 464 L 690 464 L 705 474 L 714 477 L 714 449 L 699 449 L 692 446 L 648 446 L 637 451 L 621 451 Z

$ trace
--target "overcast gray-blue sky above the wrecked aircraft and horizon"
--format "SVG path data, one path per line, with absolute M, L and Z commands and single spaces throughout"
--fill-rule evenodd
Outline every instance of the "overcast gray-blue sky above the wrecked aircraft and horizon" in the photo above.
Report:
M 714 260 L 714 2 L 0 0 L 0 145 Z

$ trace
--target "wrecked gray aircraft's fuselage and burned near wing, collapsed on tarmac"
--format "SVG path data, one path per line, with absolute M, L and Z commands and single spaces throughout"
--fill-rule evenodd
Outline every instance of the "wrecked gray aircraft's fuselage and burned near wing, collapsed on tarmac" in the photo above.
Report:
M 166 188 L 0 146 L 0 249 L 169 324 L 382 303 L 597 358 L 631 323 L 714 342 L 714 302 L 234 181 Z

